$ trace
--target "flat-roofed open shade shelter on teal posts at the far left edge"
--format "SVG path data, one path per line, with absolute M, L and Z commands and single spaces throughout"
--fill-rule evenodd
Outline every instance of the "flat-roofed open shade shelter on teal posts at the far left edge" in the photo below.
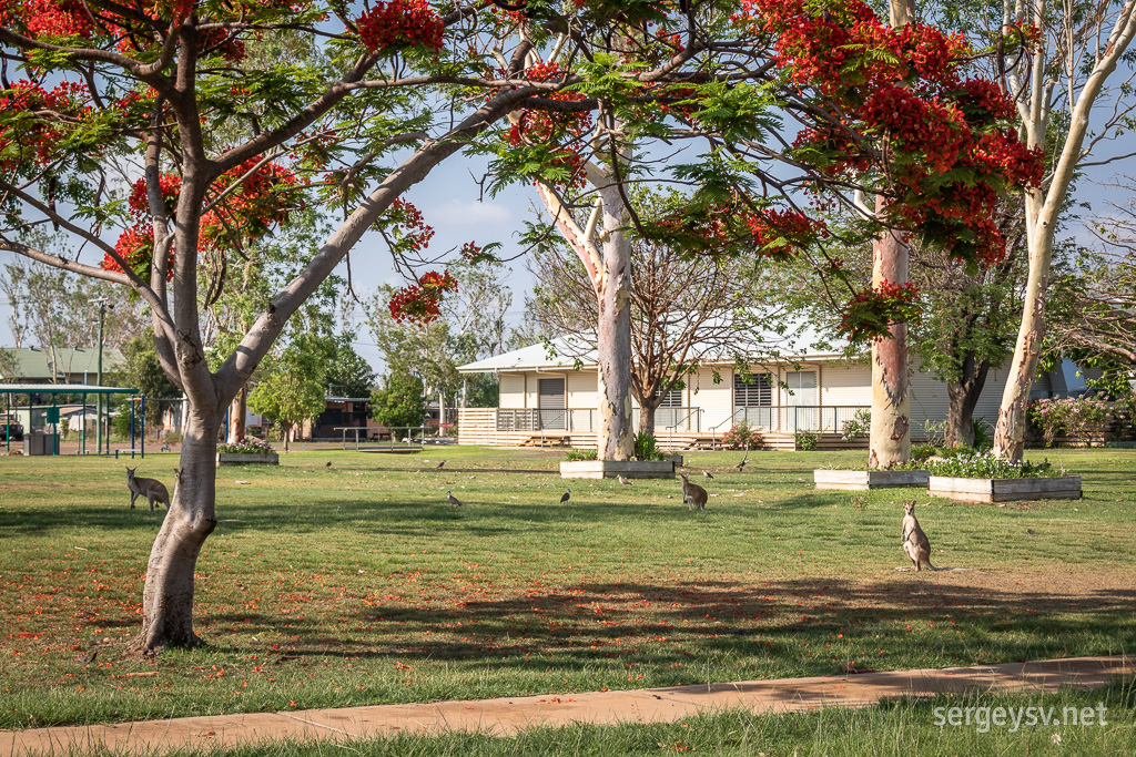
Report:
M 83 406 L 84 418 L 86 414 L 86 398 L 90 395 L 94 396 L 109 396 L 112 394 L 126 394 L 131 395 L 131 449 L 134 448 L 135 434 L 134 434 L 134 413 L 135 405 L 137 405 L 139 413 L 139 426 L 141 437 L 141 453 L 145 456 L 145 404 L 143 395 L 139 394 L 136 388 L 118 387 L 118 386 L 97 386 L 93 384 L 0 384 L 0 396 L 3 397 L 3 409 L 5 419 L 0 423 L 0 427 L 5 430 L 5 452 L 11 451 L 11 437 L 12 437 L 12 424 L 15 418 L 12 417 L 12 397 L 16 397 L 16 409 L 20 407 L 19 397 L 22 395 L 27 395 L 27 428 L 24 432 L 31 435 L 31 444 L 39 444 L 41 440 L 47 444 L 39 454 L 58 455 L 59 454 L 59 397 L 64 395 L 76 395 L 81 399 Z M 43 402 L 42 397 L 49 395 L 51 397 L 51 403 L 47 404 Z M 36 397 L 40 397 L 40 404 L 36 404 Z M 42 421 L 40 421 L 42 419 Z M 40 421 L 40 431 L 36 431 L 36 421 Z M 50 434 L 47 432 L 47 428 L 51 427 Z M 48 438 L 50 437 L 50 438 Z M 108 445 L 109 447 L 109 445 Z M 30 448 L 33 448 L 30 446 Z M 109 453 L 109 449 L 108 449 Z M 80 437 L 80 451 L 78 454 L 86 454 L 86 423 L 83 423 L 83 430 Z

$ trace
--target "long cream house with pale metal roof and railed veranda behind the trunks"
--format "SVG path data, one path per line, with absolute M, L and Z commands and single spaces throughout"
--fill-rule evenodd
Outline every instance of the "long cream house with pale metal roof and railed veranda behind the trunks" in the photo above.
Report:
M 779 337 L 778 337 L 779 339 Z M 820 344 L 821 346 L 804 346 Z M 763 358 L 740 368 L 730 355 L 705 356 L 685 387 L 671 392 L 655 412 L 655 437 L 671 449 L 712 447 L 741 422 L 761 432 L 766 446 L 795 448 L 799 431 L 818 432 L 818 446 L 866 446 L 867 439 L 842 439 L 844 423 L 871 406 L 871 364 L 849 359 L 841 346 L 827 346 L 813 334 L 795 343 L 771 339 Z M 910 389 L 912 439 L 925 439 L 946 420 L 946 385 L 913 361 Z M 1009 371 L 992 369 L 975 409 L 976 418 L 997 419 Z M 556 339 L 481 360 L 458 369 L 496 373 L 499 407 L 462 409 L 459 444 L 586 447 L 596 443 L 599 412 L 595 351 L 570 339 Z M 1050 376 L 1034 382 L 1035 396 L 1052 392 Z M 633 397 L 633 427 L 638 406 Z

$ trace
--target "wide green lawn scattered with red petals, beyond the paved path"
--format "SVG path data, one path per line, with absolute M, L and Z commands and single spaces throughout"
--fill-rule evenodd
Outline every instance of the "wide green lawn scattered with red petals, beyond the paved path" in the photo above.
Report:
M 2 457 L 0 727 L 1136 650 L 1136 451 L 1062 451 L 1079 502 L 930 501 L 933 560 L 975 570 L 918 574 L 895 570 L 900 502 L 926 493 L 811 487 L 862 452 L 754 453 L 744 474 L 737 453 L 695 453 L 716 474 L 705 513 L 677 481 L 577 481 L 560 506 L 562 456 L 298 449 L 220 469 L 209 646 L 149 663 L 119 650 L 161 514 L 130 510 L 122 461 Z M 176 464 L 148 455 L 139 476 L 169 483 Z

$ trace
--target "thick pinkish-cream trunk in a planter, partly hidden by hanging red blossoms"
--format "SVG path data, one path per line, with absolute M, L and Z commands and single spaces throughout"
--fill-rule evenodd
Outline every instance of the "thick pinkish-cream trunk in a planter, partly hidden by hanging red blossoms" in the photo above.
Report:
M 876 212 L 886 212 L 876 199 Z M 872 286 L 884 280 L 908 280 L 908 246 L 895 232 L 885 232 L 872 243 Z M 868 466 L 889 469 L 911 459 L 911 419 L 908 387 L 908 325 L 892 323 L 889 339 L 871 346 L 871 434 Z

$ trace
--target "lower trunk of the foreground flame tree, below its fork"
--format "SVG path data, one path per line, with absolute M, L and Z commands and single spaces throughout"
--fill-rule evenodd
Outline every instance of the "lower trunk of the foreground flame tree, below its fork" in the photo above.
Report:
M 206 538 L 217 527 L 217 434 L 222 414 L 191 409 L 174 496 L 150 549 L 142 590 L 142 630 L 128 650 L 152 655 L 167 646 L 201 644 L 193 631 L 193 573 Z

